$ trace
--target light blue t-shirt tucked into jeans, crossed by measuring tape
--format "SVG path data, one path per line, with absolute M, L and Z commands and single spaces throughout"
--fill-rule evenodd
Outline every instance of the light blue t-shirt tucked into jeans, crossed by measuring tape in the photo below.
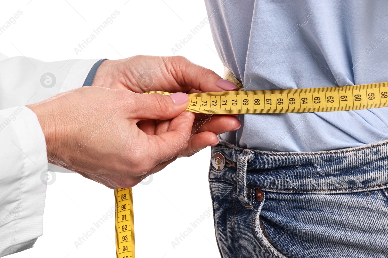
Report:
M 218 54 L 244 90 L 388 82 L 388 2 L 205 0 Z M 222 139 L 266 151 L 319 151 L 388 139 L 388 108 L 245 114 Z

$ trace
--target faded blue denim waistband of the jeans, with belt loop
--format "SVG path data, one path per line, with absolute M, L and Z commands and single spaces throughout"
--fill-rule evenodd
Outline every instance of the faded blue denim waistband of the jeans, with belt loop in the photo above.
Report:
M 209 180 L 237 187 L 321 194 L 388 188 L 388 140 L 322 152 L 265 152 L 220 140 L 211 152 L 225 156 L 225 167 L 217 171 L 210 165 Z M 239 198 L 249 199 L 244 190 Z

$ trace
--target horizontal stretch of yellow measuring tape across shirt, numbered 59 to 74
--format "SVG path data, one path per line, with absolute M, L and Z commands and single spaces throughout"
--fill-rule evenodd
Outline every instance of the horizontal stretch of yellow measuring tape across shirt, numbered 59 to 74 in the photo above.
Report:
M 154 91 L 147 93 L 170 94 Z M 203 114 L 267 114 L 344 111 L 388 106 L 388 82 L 308 89 L 188 94 L 185 111 Z

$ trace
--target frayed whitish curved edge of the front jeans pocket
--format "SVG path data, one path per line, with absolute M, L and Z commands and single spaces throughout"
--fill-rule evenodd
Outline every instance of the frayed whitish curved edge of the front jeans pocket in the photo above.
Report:
M 265 192 L 263 191 L 263 200 L 256 201 L 255 210 L 253 211 L 253 230 L 255 232 L 256 237 L 260 241 L 260 243 L 264 246 L 264 248 L 269 249 L 274 253 L 275 256 L 279 256 L 279 258 L 287 258 L 287 256 L 280 253 L 277 248 L 274 246 L 272 241 L 270 240 L 267 230 L 265 229 L 264 223 L 260 218 L 260 213 L 262 211 L 263 205 L 265 203 Z

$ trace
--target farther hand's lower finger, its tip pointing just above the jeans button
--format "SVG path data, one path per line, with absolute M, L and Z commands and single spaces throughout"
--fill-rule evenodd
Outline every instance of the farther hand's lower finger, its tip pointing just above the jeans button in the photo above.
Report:
M 184 150 L 184 152 L 182 152 L 182 154 L 178 155 L 178 157 L 190 157 L 191 155 L 196 154 L 208 146 L 217 145 L 218 142 L 220 142 L 220 140 L 217 138 L 215 133 L 202 132 L 195 134 L 190 137 L 187 148 Z

